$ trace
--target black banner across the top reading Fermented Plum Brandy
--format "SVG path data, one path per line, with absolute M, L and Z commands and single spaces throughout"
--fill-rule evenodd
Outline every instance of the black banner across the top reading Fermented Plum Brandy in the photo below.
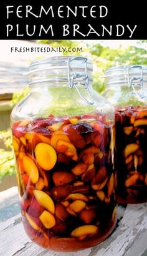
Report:
M 1 0 L 0 39 L 147 39 L 145 1 L 59 2 Z

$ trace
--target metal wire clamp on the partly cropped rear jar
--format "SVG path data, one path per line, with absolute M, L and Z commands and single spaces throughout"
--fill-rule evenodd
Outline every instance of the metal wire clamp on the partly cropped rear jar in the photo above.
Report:
M 140 76 L 131 76 L 130 70 L 131 69 L 138 69 L 140 70 Z M 130 87 L 132 87 L 133 91 L 135 92 L 136 96 L 139 96 L 141 98 L 145 97 L 144 91 L 143 91 L 143 68 L 140 65 L 133 65 L 127 67 L 127 76 L 128 76 L 128 84 Z M 141 89 L 141 94 L 136 92 L 135 85 L 139 84 Z

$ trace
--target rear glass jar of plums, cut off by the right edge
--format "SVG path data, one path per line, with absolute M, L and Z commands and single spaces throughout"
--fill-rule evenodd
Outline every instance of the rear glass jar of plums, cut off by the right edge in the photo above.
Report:
M 112 67 L 103 93 L 115 106 L 118 203 L 147 202 L 147 66 Z

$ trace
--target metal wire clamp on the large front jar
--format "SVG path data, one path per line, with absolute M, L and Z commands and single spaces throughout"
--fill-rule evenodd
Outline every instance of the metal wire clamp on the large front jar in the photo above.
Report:
M 83 61 L 85 63 L 85 74 L 80 74 L 80 73 L 74 72 L 73 75 L 70 76 L 70 62 L 75 61 L 75 60 L 76 61 Z M 92 99 L 92 95 L 91 95 L 90 90 L 88 88 L 89 77 L 88 77 L 88 74 L 87 74 L 87 58 L 85 58 L 85 57 L 69 58 L 67 69 L 68 69 L 69 88 L 72 89 L 73 87 L 75 87 L 75 89 L 77 90 L 78 94 L 83 99 L 83 101 L 87 102 L 90 105 L 93 105 L 94 102 L 93 102 L 93 99 Z M 77 78 L 83 79 L 83 82 L 75 82 L 75 79 L 77 79 Z M 85 89 L 88 92 L 88 96 L 90 98 L 90 101 L 88 101 L 88 99 L 86 99 L 84 96 L 82 96 L 81 92 L 79 91 L 79 89 L 77 87 L 78 84 L 81 84 L 82 86 L 85 87 Z

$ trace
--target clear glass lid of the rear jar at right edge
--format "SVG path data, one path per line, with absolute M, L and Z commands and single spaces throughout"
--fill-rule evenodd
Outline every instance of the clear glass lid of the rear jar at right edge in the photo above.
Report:
M 105 71 L 107 85 L 121 84 L 123 86 L 147 82 L 147 66 L 145 65 L 128 65 L 110 67 Z

